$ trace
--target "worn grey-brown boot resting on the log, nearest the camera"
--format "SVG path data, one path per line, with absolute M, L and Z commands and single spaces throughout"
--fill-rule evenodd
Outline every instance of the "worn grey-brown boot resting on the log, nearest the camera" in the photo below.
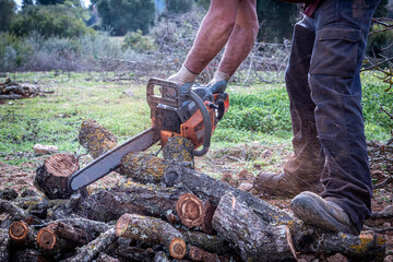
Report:
M 300 221 L 332 231 L 358 236 L 360 233 L 340 205 L 310 191 L 296 195 L 290 210 Z

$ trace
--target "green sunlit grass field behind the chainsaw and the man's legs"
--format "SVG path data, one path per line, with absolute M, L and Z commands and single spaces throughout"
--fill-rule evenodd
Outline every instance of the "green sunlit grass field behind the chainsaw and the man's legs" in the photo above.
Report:
M 0 105 L 0 162 L 23 163 L 31 157 L 36 143 L 57 145 L 60 152 L 83 153 L 78 132 L 87 118 L 111 130 L 120 143 L 151 124 L 144 84 L 103 82 L 94 73 L 56 76 L 53 72 L 37 72 L 10 76 L 37 83 L 55 94 Z M 373 72 L 362 73 L 362 82 L 367 139 L 388 141 L 393 121 L 378 111 L 381 105 L 393 108 L 392 95 L 384 92 L 388 86 Z M 132 95 L 126 95 L 126 91 Z M 213 135 L 213 150 L 255 141 L 290 150 L 290 117 L 283 83 L 231 85 L 228 93 L 230 110 Z

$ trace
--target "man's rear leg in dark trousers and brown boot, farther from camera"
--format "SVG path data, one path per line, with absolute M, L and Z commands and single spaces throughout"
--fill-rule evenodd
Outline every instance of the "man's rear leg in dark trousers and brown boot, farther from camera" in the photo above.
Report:
M 284 172 L 262 172 L 257 177 L 257 189 L 271 195 L 290 196 L 305 190 L 314 192 L 323 190 L 320 178 L 324 166 L 324 154 L 317 134 L 315 105 L 311 99 L 308 83 L 315 38 L 314 23 L 314 20 L 305 16 L 294 27 L 285 82 L 290 103 L 295 156 L 286 163 Z

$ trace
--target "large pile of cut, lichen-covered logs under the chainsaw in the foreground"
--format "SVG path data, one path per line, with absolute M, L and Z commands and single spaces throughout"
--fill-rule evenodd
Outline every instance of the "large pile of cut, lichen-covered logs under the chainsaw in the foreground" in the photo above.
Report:
M 111 141 L 86 121 L 80 140 Z M 94 129 L 94 130 L 88 130 Z M 94 131 L 94 132 L 93 132 Z M 96 135 L 87 135 L 88 133 Z M 99 141 L 98 141 L 99 140 Z M 98 141 L 98 142 L 97 142 Z M 111 146 L 104 143 L 104 147 Z M 105 150 L 104 150 L 105 151 Z M 97 155 L 91 152 L 92 155 Z M 133 152 L 117 171 L 124 183 L 71 194 L 73 156 L 49 156 L 37 169 L 45 192 L 3 193 L 0 261 L 296 261 L 302 255 L 383 261 L 386 240 L 305 225 L 249 192 L 193 167 L 192 145 L 169 139 L 163 157 Z

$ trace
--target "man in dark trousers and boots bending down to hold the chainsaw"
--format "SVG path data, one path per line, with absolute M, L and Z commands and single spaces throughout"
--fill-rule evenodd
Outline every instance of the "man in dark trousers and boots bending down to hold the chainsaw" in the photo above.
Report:
M 286 164 L 283 174 L 260 174 L 257 181 L 259 189 L 269 194 L 298 194 L 291 202 L 291 210 L 303 222 L 354 235 L 359 235 L 371 212 L 372 188 L 359 70 L 370 21 L 379 1 L 314 0 L 307 3 L 306 15 L 295 25 L 285 79 L 295 157 Z M 241 49 L 242 56 L 234 52 L 233 47 L 246 46 L 236 44 L 240 39 L 235 29 L 231 34 L 224 33 L 228 29 L 204 29 L 207 24 L 230 28 L 218 26 L 233 21 L 228 19 L 234 17 L 233 12 L 226 15 L 227 2 L 237 2 L 240 7 L 248 1 L 212 1 L 209 13 L 216 10 L 215 15 L 222 13 L 222 16 L 215 22 L 204 20 L 183 68 L 171 80 L 179 84 L 193 82 L 229 36 L 218 73 L 207 86 L 213 92 L 226 87 L 229 76 L 251 49 L 249 46 Z M 212 51 L 211 46 L 217 49 Z M 321 196 L 302 192 L 305 190 L 319 192 Z

